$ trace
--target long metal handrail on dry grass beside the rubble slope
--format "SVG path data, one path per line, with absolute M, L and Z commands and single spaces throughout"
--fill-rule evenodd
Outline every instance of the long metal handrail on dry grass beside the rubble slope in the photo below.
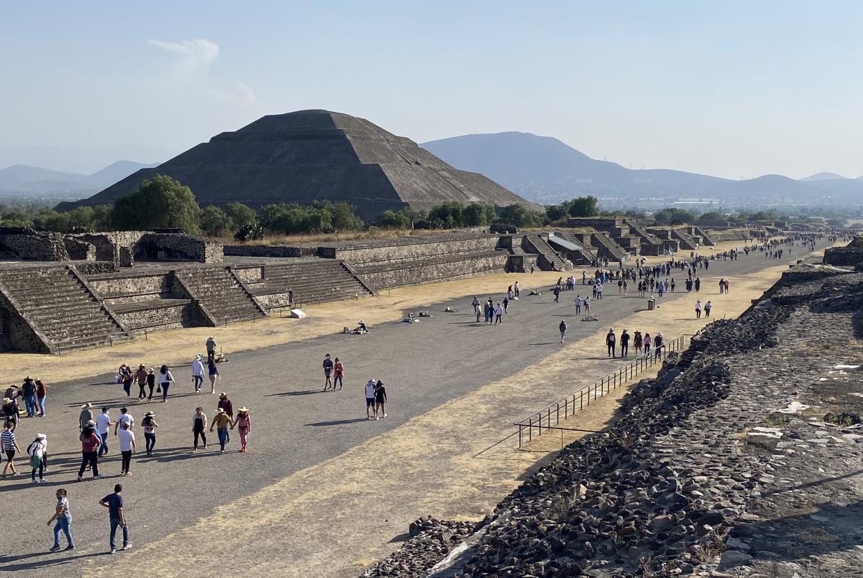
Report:
M 536 435 L 541 436 L 545 430 L 570 430 L 572 428 L 561 428 L 559 424 L 561 419 L 568 419 L 570 415 L 575 415 L 576 412 L 581 412 L 585 407 L 590 405 L 591 398 L 602 398 L 605 394 L 611 393 L 619 386 L 623 386 L 629 380 L 632 380 L 636 375 L 645 371 L 647 368 L 652 368 L 658 362 L 664 361 L 669 353 L 674 351 L 683 351 L 689 347 L 692 334 L 684 333 L 670 339 L 662 344 L 661 349 L 652 349 L 642 355 L 639 355 L 633 361 L 629 361 L 626 365 L 620 366 L 613 372 L 603 375 L 601 378 L 590 382 L 587 386 L 583 386 L 570 393 L 564 398 L 551 402 L 539 412 L 533 412 L 531 415 L 516 422 L 519 428 L 519 449 L 525 443 L 525 430 L 527 430 L 527 442 L 532 441 L 533 432 L 536 430 Z M 553 425 L 552 425 L 553 422 Z

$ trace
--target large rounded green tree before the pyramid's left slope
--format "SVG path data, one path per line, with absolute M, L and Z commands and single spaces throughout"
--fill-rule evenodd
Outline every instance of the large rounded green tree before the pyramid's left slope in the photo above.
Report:
M 111 224 L 119 230 L 181 229 L 198 233 L 200 208 L 192 190 L 165 174 L 138 185 L 130 195 L 117 198 Z

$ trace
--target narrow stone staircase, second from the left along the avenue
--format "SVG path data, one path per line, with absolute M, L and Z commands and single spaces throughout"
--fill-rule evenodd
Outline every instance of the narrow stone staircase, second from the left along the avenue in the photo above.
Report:
M 249 321 L 267 315 L 227 267 L 195 267 L 177 270 L 175 275 L 214 324 Z

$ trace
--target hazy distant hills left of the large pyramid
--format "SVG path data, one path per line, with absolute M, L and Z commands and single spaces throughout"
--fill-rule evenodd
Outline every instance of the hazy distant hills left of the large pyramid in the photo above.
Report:
M 41 166 L 13 165 L 0 169 L 0 192 L 45 193 L 99 191 L 135 171 L 156 166 L 117 160 L 92 174 L 64 173 Z

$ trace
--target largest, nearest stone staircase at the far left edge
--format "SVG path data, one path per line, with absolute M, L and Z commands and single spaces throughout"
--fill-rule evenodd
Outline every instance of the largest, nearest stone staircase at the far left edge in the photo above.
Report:
M 134 338 L 66 267 L 0 271 L 0 291 L 50 353 L 64 354 Z

